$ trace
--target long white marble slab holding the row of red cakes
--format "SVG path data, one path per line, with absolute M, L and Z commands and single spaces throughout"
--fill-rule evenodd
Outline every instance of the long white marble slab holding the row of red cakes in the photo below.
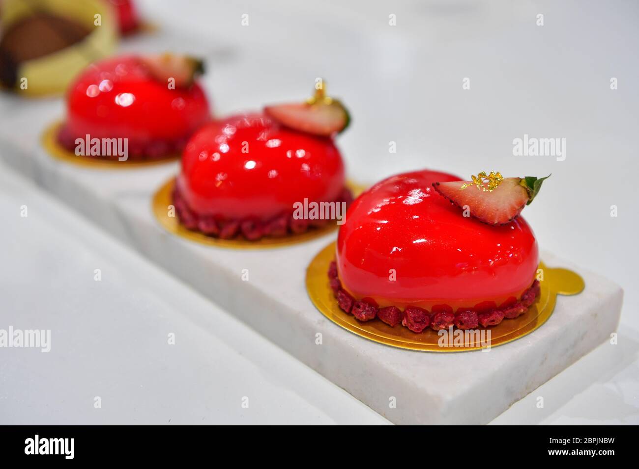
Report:
M 91 170 L 53 160 L 38 144 L 37 130 L 57 112 L 52 102 L 40 105 L 38 115 L 17 115 L 0 133 L 4 159 L 392 422 L 487 423 L 616 331 L 621 288 L 544 253 L 547 265 L 579 272 L 586 289 L 559 297 L 550 320 L 525 338 L 489 353 L 462 354 L 410 352 L 359 338 L 328 322 L 305 292 L 305 267 L 332 235 L 289 248 L 236 251 L 167 234 L 153 218 L 151 197 L 176 165 Z M 243 269 L 249 281 L 242 281 Z M 316 345 L 318 332 L 322 345 Z

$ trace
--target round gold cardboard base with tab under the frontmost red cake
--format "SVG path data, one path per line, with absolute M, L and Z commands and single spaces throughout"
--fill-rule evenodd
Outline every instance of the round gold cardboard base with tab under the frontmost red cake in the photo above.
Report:
M 433 331 L 427 329 L 415 334 L 401 325 L 390 327 L 380 320 L 360 322 L 354 316 L 344 313 L 339 306 L 328 283 L 328 265 L 335 259 L 335 242 L 319 251 L 306 270 L 306 288 L 311 301 L 324 316 L 347 331 L 374 342 L 409 350 L 424 352 L 467 352 L 494 347 L 519 339 L 541 327 L 553 313 L 557 295 L 576 295 L 584 288 L 583 279 L 567 269 L 551 269 L 543 262 L 539 269 L 543 271 L 540 281 L 541 294 L 528 311 L 515 319 L 504 319 L 501 324 L 484 330 L 476 329 L 472 333 L 456 329 Z M 488 336 L 488 331 L 490 335 Z M 440 343 L 442 345 L 440 345 Z

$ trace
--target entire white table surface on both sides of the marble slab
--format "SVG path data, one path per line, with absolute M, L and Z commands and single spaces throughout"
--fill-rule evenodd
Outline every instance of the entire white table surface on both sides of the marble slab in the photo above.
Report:
M 494 422 L 639 423 L 636 3 L 142 3 L 164 27 L 197 36 L 176 48 L 210 58 L 206 84 L 219 114 L 302 97 L 315 77 L 327 78 L 329 93 L 354 117 L 340 145 L 360 180 L 424 166 L 463 175 L 552 172 L 527 220 L 544 249 L 625 288 L 619 345 L 599 347 Z M 240 25 L 242 13 L 250 26 Z M 535 26 L 537 13 L 543 27 Z M 123 47 L 152 43 L 137 41 Z M 461 89 L 464 77 L 470 90 Z M 610 90 L 610 77 L 619 89 Z M 566 161 L 512 156 L 512 139 L 524 133 L 566 138 Z M 388 153 L 390 141 L 397 154 Z M 52 338 L 63 358 L 0 349 L 10 358 L 0 361 L 0 423 L 385 422 L 0 169 L 8 225 L 0 242 L 10 246 L 0 271 L 0 327 L 26 319 L 68 327 Z M 26 219 L 22 204 L 30 207 Z M 619 207 L 617 218 L 610 205 Z M 104 265 L 99 283 L 97 264 Z M 201 321 L 219 322 L 220 333 L 203 332 Z M 176 345 L 166 344 L 168 332 L 176 332 Z M 249 409 L 240 406 L 243 396 Z

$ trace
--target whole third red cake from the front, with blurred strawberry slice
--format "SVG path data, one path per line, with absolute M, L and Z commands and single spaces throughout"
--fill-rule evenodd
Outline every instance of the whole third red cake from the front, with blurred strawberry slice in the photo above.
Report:
M 76 154 L 105 159 L 118 155 L 92 153 L 89 147 L 78 153 L 78 145 L 121 139 L 127 142 L 128 160 L 179 154 L 210 120 L 204 91 L 194 82 L 201 70 L 200 62 L 170 54 L 116 57 L 89 66 L 68 90 L 59 143 Z

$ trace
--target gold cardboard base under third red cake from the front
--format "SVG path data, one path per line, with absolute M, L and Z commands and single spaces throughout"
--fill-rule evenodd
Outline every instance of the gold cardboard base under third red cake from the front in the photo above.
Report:
M 168 163 L 169 161 L 175 161 L 180 158 L 179 154 L 171 154 L 166 158 L 159 160 L 100 160 L 98 158 L 91 158 L 89 156 L 77 156 L 72 151 L 68 151 L 65 147 L 58 143 L 58 131 L 62 126 L 62 121 L 55 122 L 47 127 L 42 134 L 42 146 L 51 156 L 56 160 L 65 161 L 65 163 L 72 163 L 73 165 L 80 165 L 84 167 L 91 167 L 94 169 L 130 169 L 130 168 L 142 168 L 150 165 L 159 165 Z

